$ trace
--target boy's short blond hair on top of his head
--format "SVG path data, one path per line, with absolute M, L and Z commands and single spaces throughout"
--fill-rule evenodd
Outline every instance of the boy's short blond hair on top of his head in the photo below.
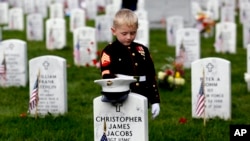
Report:
M 117 28 L 119 26 L 126 25 L 132 28 L 138 28 L 138 18 L 137 15 L 130 9 L 120 9 L 114 17 L 113 27 Z

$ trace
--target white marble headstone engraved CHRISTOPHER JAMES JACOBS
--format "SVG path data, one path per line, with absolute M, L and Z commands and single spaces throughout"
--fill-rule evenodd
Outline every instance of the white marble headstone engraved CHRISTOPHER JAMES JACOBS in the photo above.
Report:
M 129 93 L 123 103 L 112 105 L 96 97 L 94 103 L 94 141 L 100 141 L 106 122 L 109 141 L 148 141 L 147 98 Z

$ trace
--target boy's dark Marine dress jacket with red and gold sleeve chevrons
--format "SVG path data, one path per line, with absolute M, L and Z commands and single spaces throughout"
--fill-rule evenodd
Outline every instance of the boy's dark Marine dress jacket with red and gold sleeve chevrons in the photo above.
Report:
M 131 92 L 146 96 L 151 104 L 160 103 L 156 72 L 147 47 L 135 42 L 124 46 L 114 41 L 102 51 L 101 73 L 104 79 L 115 78 L 117 74 L 146 78 L 132 83 Z

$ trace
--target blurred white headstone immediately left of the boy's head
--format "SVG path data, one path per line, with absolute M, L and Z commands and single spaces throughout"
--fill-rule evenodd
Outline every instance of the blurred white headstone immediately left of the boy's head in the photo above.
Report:
M 96 38 L 99 42 L 112 42 L 112 18 L 108 15 L 98 15 L 95 18 Z

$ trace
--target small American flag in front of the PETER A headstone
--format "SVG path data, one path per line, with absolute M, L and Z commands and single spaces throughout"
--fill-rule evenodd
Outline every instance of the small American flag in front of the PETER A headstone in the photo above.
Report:
M 201 82 L 198 100 L 196 103 L 196 115 L 201 116 L 205 112 L 205 95 L 204 95 L 204 82 Z

